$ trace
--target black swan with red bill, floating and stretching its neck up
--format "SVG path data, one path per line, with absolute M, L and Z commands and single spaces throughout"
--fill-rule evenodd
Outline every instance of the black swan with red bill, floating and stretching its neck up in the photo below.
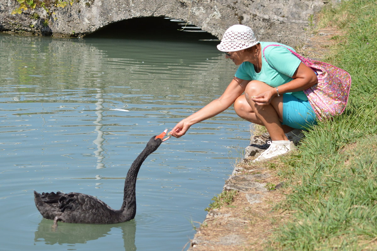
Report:
M 167 140 L 164 138 L 167 129 L 160 135 L 153 136 L 146 148 L 133 161 L 124 181 L 123 204 L 120 210 L 114 210 L 105 202 L 83 193 L 37 193 L 34 201 L 44 218 L 53 219 L 54 226 L 58 221 L 89 224 L 113 224 L 133 219 L 136 214 L 135 185 L 141 164 L 144 160 Z

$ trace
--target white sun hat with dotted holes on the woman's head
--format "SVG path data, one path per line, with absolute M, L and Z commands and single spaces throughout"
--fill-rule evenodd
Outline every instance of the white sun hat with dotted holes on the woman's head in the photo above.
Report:
M 254 32 L 250 27 L 235 24 L 225 31 L 217 49 L 221 52 L 235 52 L 252 47 L 257 43 L 259 43 L 259 41 L 256 41 Z

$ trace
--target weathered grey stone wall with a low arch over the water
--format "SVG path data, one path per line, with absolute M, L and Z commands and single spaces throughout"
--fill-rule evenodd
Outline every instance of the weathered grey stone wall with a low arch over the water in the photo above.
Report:
M 37 2 L 37 1 L 34 1 Z M 295 46 L 321 0 L 45 0 L 47 8 L 11 12 L 17 0 L 0 0 L 0 31 L 81 37 L 117 21 L 169 17 L 188 21 L 222 37 L 233 24 L 252 27 L 257 38 Z M 54 4 L 52 4 L 54 2 Z M 57 3 L 59 6 L 57 6 Z M 70 4 L 72 3 L 72 5 Z

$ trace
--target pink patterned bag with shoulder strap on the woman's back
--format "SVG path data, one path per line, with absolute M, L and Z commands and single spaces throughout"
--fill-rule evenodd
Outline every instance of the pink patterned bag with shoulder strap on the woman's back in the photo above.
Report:
M 270 44 L 268 46 L 281 45 Z M 264 50 L 268 46 L 263 49 L 263 56 Z M 287 49 L 290 50 L 289 48 Z M 329 119 L 343 113 L 347 105 L 349 89 L 351 88 L 351 76 L 349 73 L 333 65 L 304 58 L 293 50 L 290 50 L 290 52 L 310 67 L 317 75 L 318 83 L 304 90 L 304 93 L 308 97 L 310 105 L 318 119 Z

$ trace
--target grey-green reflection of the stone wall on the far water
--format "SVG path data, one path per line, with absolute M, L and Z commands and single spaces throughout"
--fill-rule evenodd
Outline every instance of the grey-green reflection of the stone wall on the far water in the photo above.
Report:
M 203 96 L 213 93 L 209 88 L 218 89 L 221 94 L 235 70 L 233 63 L 216 49 L 218 42 L 211 41 L 2 38 L 3 50 L 13 53 L 8 61 L 2 62 L 3 66 L 18 69 L 14 73 L 18 76 L 10 78 L 19 79 L 20 85 L 29 85 L 31 92 L 51 96 L 54 95 L 51 89 L 88 88 L 86 95 L 91 97 L 81 100 L 83 103 L 97 102 L 95 88 L 106 88 L 104 93 L 128 95 L 127 100 L 133 99 L 133 95 L 165 97 L 198 93 L 193 88 L 198 88 Z M 49 102 L 49 96 L 44 98 Z

